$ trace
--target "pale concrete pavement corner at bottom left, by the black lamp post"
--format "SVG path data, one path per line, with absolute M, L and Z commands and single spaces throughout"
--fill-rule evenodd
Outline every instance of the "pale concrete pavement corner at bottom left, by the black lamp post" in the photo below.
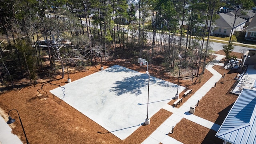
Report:
M 0 144 L 22 144 L 18 136 L 12 134 L 12 129 L 0 116 Z

